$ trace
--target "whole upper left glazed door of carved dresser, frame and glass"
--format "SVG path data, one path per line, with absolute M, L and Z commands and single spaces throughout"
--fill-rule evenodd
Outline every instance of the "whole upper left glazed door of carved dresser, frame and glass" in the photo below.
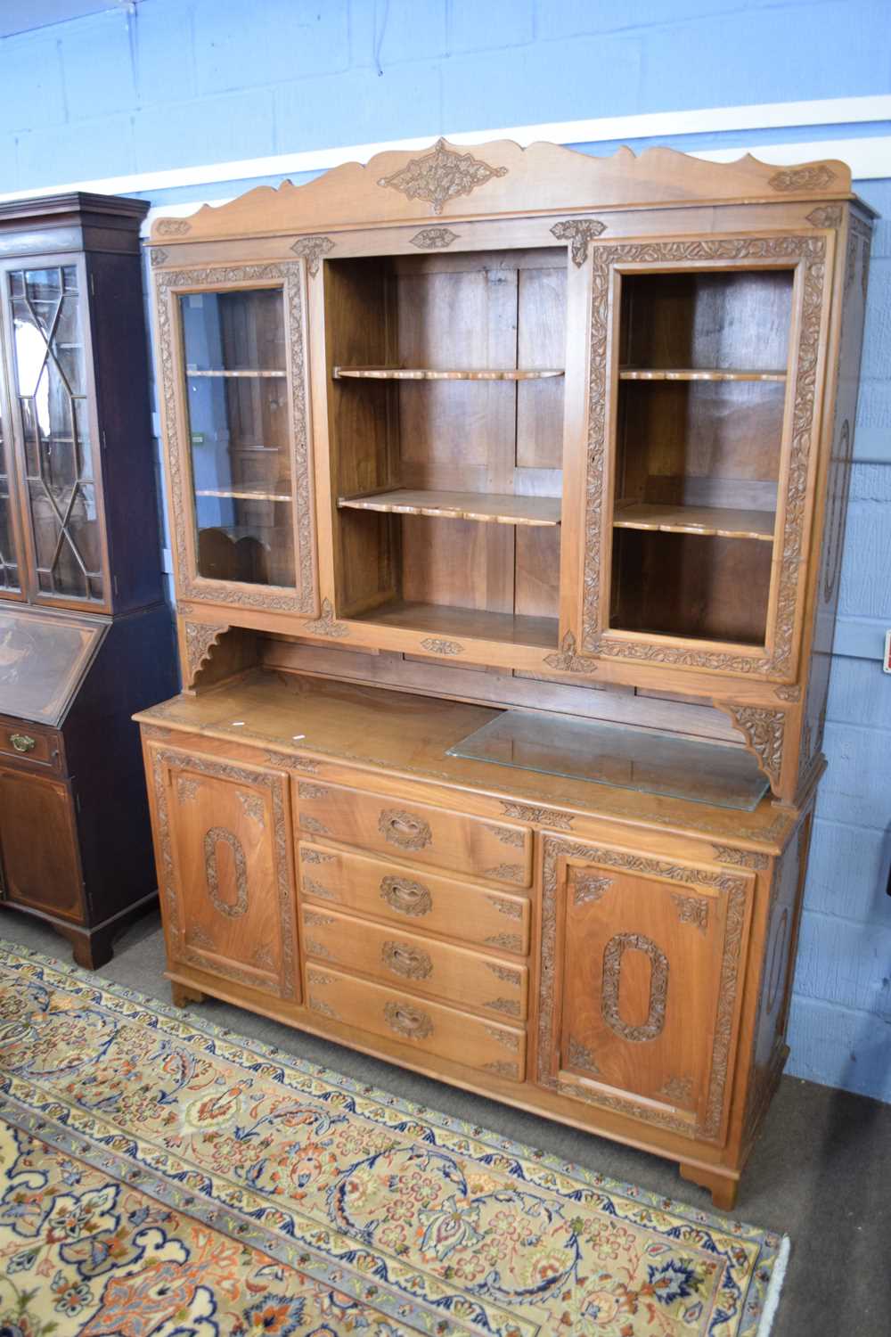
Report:
M 178 595 L 315 616 L 305 262 L 155 283 Z

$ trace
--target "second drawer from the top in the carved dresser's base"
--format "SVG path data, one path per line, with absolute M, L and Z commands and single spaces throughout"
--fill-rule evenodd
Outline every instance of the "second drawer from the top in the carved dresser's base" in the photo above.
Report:
M 465 943 L 525 956 L 529 900 L 473 882 L 439 877 L 379 858 L 322 849 L 301 841 L 303 897 L 358 910 L 401 929 L 422 928 Z

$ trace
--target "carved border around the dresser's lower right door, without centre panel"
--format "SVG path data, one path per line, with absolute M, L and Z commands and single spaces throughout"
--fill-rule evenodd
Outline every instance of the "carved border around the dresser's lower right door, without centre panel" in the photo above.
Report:
M 600 846 L 578 845 L 574 841 L 564 840 L 560 836 L 542 836 L 542 886 L 541 886 L 541 973 L 538 984 L 538 1058 L 537 1082 L 538 1086 L 557 1091 L 561 1095 L 581 1098 L 590 1104 L 601 1106 L 605 1110 L 614 1110 L 618 1114 L 629 1114 L 636 1119 L 657 1127 L 669 1128 L 687 1138 L 716 1139 L 720 1134 L 721 1115 L 724 1111 L 724 1092 L 727 1087 L 728 1067 L 731 1058 L 731 1040 L 733 1036 L 733 1015 L 736 1011 L 737 976 L 740 953 L 743 948 L 743 929 L 745 927 L 745 900 L 749 885 L 749 876 L 740 877 L 732 873 L 713 873 L 707 869 L 687 868 L 683 864 L 668 864 L 649 856 L 631 854 L 624 850 L 602 849 Z M 727 921 L 724 928 L 724 944 L 721 953 L 721 968 L 717 984 L 717 1011 L 715 1013 L 715 1038 L 712 1042 L 712 1060 L 709 1066 L 709 1086 L 705 1100 L 705 1115 L 701 1123 L 692 1126 L 688 1119 L 661 1110 L 653 1110 L 648 1104 L 639 1103 L 633 1098 L 609 1096 L 605 1092 L 578 1087 L 572 1082 L 561 1080 L 557 1076 L 560 1068 L 558 1042 L 554 1036 L 554 1017 L 557 1011 L 557 865 L 562 856 L 580 858 L 593 864 L 621 868 L 629 873 L 668 878 L 675 882 L 692 884 L 699 886 L 713 886 L 727 897 Z

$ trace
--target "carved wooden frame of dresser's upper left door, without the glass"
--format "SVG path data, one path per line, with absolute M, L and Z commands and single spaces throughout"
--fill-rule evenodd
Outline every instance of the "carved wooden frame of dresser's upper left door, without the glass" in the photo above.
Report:
M 305 618 L 319 614 L 306 269 L 306 259 L 231 265 L 208 262 L 159 269 L 155 274 L 162 417 L 178 599 Z M 285 303 L 289 463 L 294 488 L 294 588 L 214 580 L 198 574 L 183 330 L 176 298 L 190 293 L 255 291 L 262 287 L 282 289 Z

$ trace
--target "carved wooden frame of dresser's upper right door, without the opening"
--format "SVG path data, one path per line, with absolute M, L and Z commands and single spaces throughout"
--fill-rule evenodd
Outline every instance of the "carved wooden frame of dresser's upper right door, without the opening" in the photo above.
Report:
M 801 572 L 814 520 L 834 246 L 831 233 L 592 242 L 588 455 L 577 608 L 582 655 L 780 683 L 795 681 L 806 600 Z M 610 628 L 621 275 L 753 269 L 792 269 L 795 274 L 777 492 L 779 560 L 771 578 L 765 643 L 748 647 Z

